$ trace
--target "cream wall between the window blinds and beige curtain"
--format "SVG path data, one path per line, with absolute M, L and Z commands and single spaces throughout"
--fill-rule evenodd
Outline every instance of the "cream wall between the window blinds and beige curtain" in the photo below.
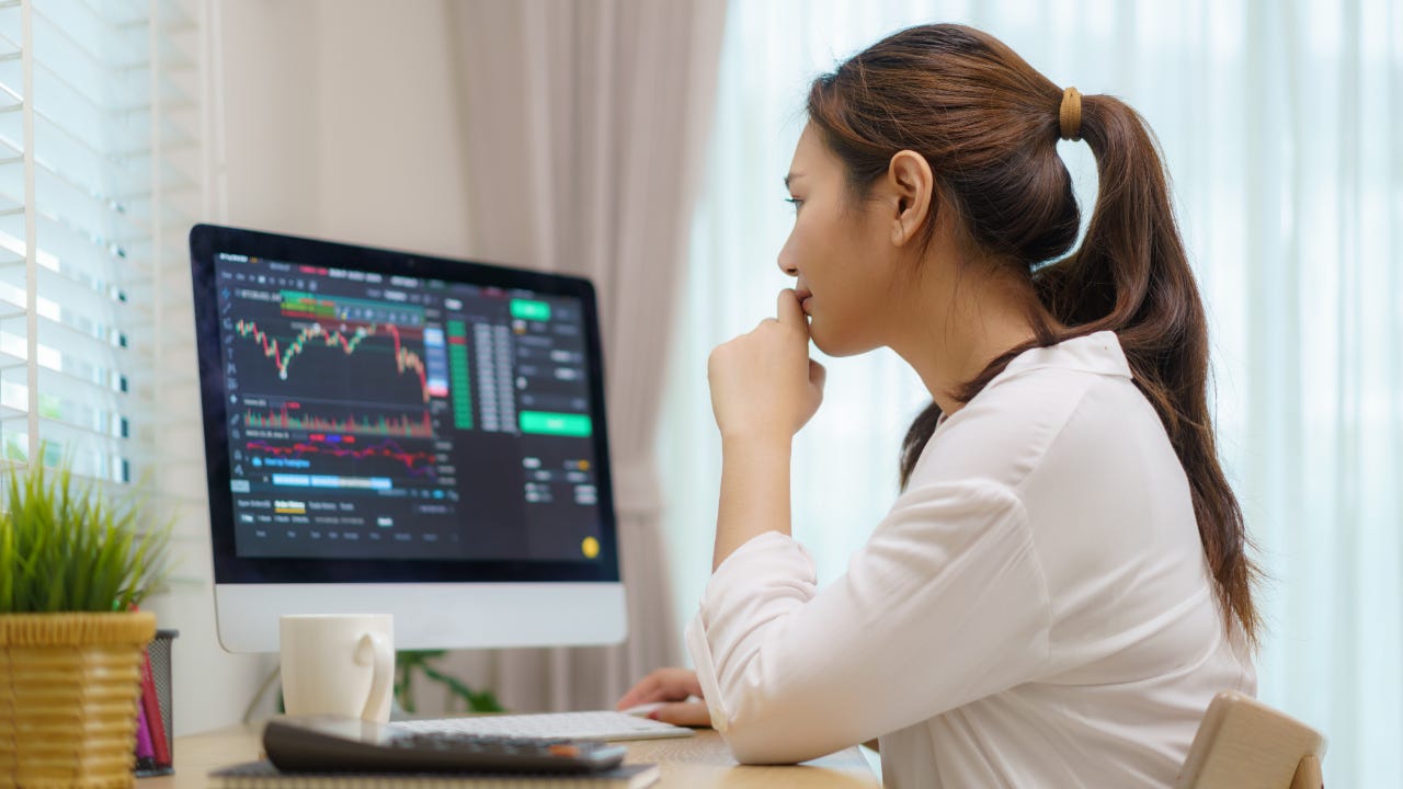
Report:
M 463 257 L 457 104 L 441 0 L 210 0 L 209 220 Z M 196 431 L 198 432 L 198 431 Z M 206 526 L 208 528 L 208 526 Z M 198 528 L 195 529 L 199 531 Z M 175 731 L 237 723 L 276 664 L 215 637 L 206 542 L 153 599 L 174 644 Z M 267 712 L 271 699 L 261 708 Z

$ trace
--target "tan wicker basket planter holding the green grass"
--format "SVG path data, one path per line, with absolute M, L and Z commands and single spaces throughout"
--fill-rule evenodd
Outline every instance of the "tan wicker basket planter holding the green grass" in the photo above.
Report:
M 0 614 L 0 789 L 132 786 L 154 635 L 147 612 Z

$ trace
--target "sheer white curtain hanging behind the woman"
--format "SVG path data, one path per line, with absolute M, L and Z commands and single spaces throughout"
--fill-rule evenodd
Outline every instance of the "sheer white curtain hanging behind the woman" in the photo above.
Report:
M 808 81 L 899 27 L 972 24 L 1058 84 L 1128 100 L 1164 147 L 1211 316 L 1221 452 L 1271 574 L 1261 696 L 1330 737 L 1327 782 L 1403 783 L 1403 7 L 1291 3 L 731 4 L 659 455 L 679 622 L 709 574 L 720 446 L 710 348 L 773 310 L 780 177 Z M 1083 206 L 1094 161 L 1061 143 Z M 1085 218 L 1083 218 L 1085 219 Z M 796 441 L 819 577 L 897 491 L 926 393 L 891 354 L 824 359 Z

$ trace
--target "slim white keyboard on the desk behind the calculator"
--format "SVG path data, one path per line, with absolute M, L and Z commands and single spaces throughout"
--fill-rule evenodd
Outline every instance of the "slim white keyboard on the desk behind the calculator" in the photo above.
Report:
M 624 715 L 615 710 L 396 720 L 390 723 L 390 727 L 404 731 L 442 731 L 497 737 L 568 737 L 574 740 L 655 740 L 659 737 L 692 736 L 692 730 L 683 726 L 673 726 L 661 720 Z

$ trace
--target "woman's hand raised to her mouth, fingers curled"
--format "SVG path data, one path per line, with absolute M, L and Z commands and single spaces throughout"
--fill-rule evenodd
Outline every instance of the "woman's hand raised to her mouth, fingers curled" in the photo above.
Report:
M 723 438 L 772 434 L 788 442 L 824 402 L 824 365 L 808 358 L 808 321 L 794 291 L 776 317 L 717 345 L 707 361 L 711 410 Z

